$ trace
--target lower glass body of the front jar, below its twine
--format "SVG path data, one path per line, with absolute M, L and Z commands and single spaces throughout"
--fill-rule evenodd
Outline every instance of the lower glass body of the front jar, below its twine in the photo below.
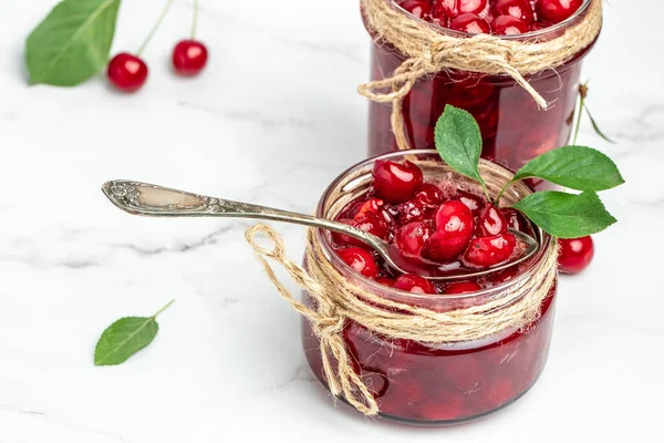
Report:
M 426 346 L 390 340 L 353 321 L 346 322 L 343 339 L 382 416 L 421 425 L 464 423 L 510 404 L 537 381 L 549 353 L 554 301 L 556 288 L 542 301 L 538 320 L 497 340 Z M 319 340 L 307 319 L 302 347 L 325 384 Z

